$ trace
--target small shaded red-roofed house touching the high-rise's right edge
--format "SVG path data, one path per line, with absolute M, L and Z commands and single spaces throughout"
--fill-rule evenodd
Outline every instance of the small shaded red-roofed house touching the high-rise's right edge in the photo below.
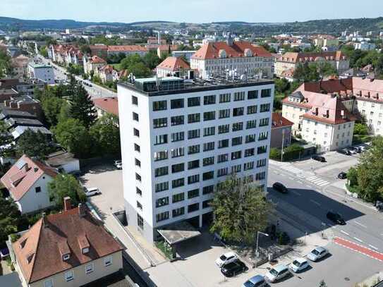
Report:
M 270 147 L 288 147 L 291 143 L 291 127 L 293 122 L 288 121 L 279 113 L 272 114 L 272 133 Z

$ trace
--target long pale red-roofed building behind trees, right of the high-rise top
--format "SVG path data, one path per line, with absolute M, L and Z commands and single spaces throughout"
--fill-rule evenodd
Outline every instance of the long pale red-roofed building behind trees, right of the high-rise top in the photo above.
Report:
M 322 51 L 320 53 L 294 53 L 287 52 L 276 58 L 275 71 L 277 77 L 283 77 L 286 72 L 293 73 L 299 64 L 320 63 L 332 64 L 339 73 L 348 70 L 350 62 L 341 51 Z

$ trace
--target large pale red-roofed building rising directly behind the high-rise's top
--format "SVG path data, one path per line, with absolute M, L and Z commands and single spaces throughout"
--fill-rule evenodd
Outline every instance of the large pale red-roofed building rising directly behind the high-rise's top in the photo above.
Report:
M 209 42 L 204 44 L 190 59 L 190 67 L 199 72 L 200 78 L 226 75 L 235 71 L 238 76 L 248 78 L 259 75 L 271 77 L 274 57 L 265 48 L 250 42 Z

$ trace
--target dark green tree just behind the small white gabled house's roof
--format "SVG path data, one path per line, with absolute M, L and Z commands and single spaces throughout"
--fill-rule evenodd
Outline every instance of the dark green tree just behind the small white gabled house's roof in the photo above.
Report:
M 25 130 L 23 135 L 20 135 L 16 145 L 16 154 L 21 157 L 23 154 L 28 157 L 37 157 L 44 159 L 53 151 L 51 139 L 48 135 L 41 131 Z

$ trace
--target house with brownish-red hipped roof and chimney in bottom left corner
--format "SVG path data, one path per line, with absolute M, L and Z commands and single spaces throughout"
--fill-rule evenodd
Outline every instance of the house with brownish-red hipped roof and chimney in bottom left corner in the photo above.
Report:
M 122 250 L 85 204 L 71 207 L 65 197 L 63 212 L 43 216 L 11 244 L 11 259 L 23 287 L 77 287 L 120 271 Z

